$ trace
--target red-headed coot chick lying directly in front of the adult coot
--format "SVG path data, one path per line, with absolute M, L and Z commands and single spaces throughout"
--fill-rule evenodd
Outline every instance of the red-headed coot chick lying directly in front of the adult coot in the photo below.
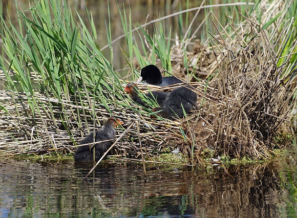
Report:
M 139 94 L 137 92 L 138 87 L 134 83 L 128 83 L 127 86 L 125 87 L 125 92 L 130 95 L 130 98 L 142 105 L 142 106 L 147 106 L 147 104 L 139 97 Z M 152 91 L 147 94 L 145 94 L 148 98 L 153 99 L 157 101 L 159 106 L 163 105 L 163 102 L 165 101 L 166 97 L 169 95 L 168 92 L 160 92 L 160 91 Z

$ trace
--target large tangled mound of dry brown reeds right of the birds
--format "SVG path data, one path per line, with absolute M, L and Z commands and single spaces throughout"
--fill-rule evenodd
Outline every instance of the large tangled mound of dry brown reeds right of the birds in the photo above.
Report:
M 279 64 L 288 38 L 271 43 L 255 19 L 242 16 L 246 23 L 229 24 L 236 37 L 211 34 L 217 73 L 200 95 L 200 110 L 182 123 L 190 141 L 183 149 L 198 162 L 208 155 L 269 157 L 290 132 L 296 70 Z

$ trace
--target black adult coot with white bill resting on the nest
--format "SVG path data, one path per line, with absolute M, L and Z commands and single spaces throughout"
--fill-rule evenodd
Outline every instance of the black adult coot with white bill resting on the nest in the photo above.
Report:
M 137 83 L 140 83 L 141 81 L 145 81 L 150 85 L 159 87 L 166 87 L 177 83 L 183 83 L 183 81 L 173 76 L 162 77 L 159 68 L 155 65 L 147 65 L 140 70 L 140 77 Z

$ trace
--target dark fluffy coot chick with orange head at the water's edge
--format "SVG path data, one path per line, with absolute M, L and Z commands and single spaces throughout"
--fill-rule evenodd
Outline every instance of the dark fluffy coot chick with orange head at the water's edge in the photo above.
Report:
M 95 141 L 105 141 L 114 139 L 115 130 L 114 128 L 118 126 L 118 124 L 123 124 L 119 119 L 114 117 L 110 117 L 105 122 L 105 127 L 103 130 L 99 130 L 95 132 Z M 94 142 L 93 140 L 94 132 L 91 132 L 87 135 L 81 142 L 80 145 L 88 144 Z M 100 142 L 96 143 L 91 149 L 89 145 L 80 146 L 77 148 L 74 154 L 75 161 L 93 161 L 93 150 L 95 147 L 95 161 L 98 161 L 104 153 L 110 148 L 112 145 L 112 141 Z

